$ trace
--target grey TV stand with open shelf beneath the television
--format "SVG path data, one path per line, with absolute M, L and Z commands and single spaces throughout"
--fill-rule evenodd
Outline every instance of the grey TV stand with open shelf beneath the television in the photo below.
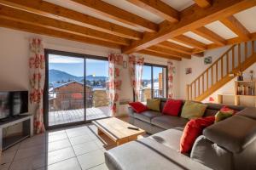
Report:
M 17 123 L 22 122 L 22 133 L 20 135 L 15 135 L 3 139 L 3 129 L 6 127 L 14 126 Z M 6 150 L 9 147 L 17 144 L 23 139 L 31 137 L 33 135 L 33 116 L 30 114 L 22 114 L 20 116 L 9 117 L 0 122 L 0 154 L 2 150 Z

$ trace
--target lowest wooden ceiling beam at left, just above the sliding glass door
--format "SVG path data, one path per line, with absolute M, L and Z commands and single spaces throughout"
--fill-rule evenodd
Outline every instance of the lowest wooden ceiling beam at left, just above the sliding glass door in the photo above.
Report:
M 19 30 L 19 31 L 28 31 L 28 32 L 50 36 L 50 37 L 58 37 L 58 38 L 72 40 L 76 42 L 85 42 L 85 43 L 100 45 L 108 48 L 120 48 L 118 44 L 115 44 L 112 42 L 104 42 L 102 40 L 96 40 L 90 37 L 81 37 L 72 33 L 55 31 L 49 28 L 44 28 L 42 26 L 34 26 L 34 25 L 22 23 L 20 21 L 8 20 L 4 18 L 0 18 L 0 26 L 11 28 L 14 30 Z

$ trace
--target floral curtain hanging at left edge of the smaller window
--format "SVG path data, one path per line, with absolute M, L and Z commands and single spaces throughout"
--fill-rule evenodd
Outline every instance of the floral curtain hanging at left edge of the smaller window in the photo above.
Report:
M 131 79 L 131 87 L 133 88 L 136 101 L 142 101 L 139 90 L 142 86 L 143 78 L 143 57 L 136 57 L 134 55 L 129 56 L 129 73 Z

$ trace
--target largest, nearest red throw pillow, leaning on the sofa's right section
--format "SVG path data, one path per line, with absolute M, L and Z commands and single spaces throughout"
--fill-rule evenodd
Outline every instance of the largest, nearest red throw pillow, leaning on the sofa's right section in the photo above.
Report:
M 195 143 L 195 139 L 201 135 L 203 129 L 212 125 L 214 121 L 215 116 L 207 116 L 204 118 L 190 120 L 184 127 L 183 135 L 180 139 L 180 152 L 189 152 Z

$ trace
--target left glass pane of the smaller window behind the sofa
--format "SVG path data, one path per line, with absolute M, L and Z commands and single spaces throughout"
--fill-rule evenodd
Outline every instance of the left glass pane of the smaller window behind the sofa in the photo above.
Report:
M 151 99 L 151 83 L 151 66 L 143 65 L 143 87 L 140 91 L 141 99 L 143 102 L 146 102 L 147 99 Z

